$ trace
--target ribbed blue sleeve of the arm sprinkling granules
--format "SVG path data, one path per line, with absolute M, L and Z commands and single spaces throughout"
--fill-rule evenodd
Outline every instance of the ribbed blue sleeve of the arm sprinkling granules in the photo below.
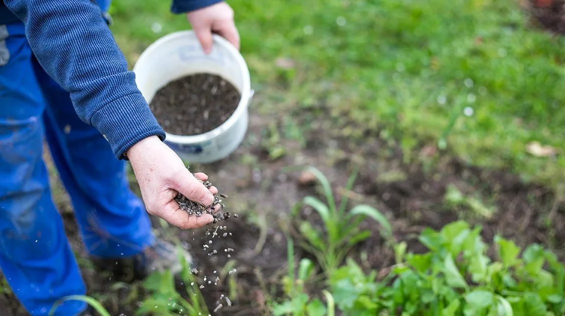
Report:
M 24 22 L 41 66 L 70 93 L 79 117 L 106 137 L 116 158 L 145 137 L 164 140 L 97 6 L 89 0 L 4 1 Z

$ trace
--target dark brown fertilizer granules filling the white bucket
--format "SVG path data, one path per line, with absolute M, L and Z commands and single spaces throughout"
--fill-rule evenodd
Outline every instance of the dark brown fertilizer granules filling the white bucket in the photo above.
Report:
M 175 135 L 198 135 L 224 123 L 241 94 L 218 75 L 196 73 L 159 89 L 149 107 L 159 124 Z

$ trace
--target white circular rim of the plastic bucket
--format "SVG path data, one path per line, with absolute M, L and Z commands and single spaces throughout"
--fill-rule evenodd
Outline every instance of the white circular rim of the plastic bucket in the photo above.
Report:
M 147 46 L 147 48 L 141 53 L 140 57 L 137 58 L 137 61 L 133 67 L 133 72 L 136 72 L 136 68 L 138 66 L 139 60 L 142 60 L 147 57 L 147 55 L 152 54 L 155 50 L 158 50 L 161 45 L 165 42 L 177 40 L 182 37 L 192 37 L 197 38 L 196 34 L 193 30 L 186 30 L 186 31 L 177 31 L 173 33 L 169 33 L 163 37 L 160 37 L 158 40 L 154 41 L 152 44 Z M 240 51 L 236 49 L 235 46 L 231 44 L 225 38 L 219 36 L 218 34 L 212 34 L 212 39 L 214 44 L 218 44 L 222 46 L 224 49 L 228 51 L 230 55 L 234 57 L 237 62 L 238 68 L 240 68 L 242 74 L 242 87 L 241 87 L 241 97 L 240 102 L 237 104 L 236 110 L 233 111 L 232 115 L 229 116 L 224 123 L 221 123 L 211 131 L 201 133 L 198 135 L 175 135 L 172 133 L 168 133 L 165 131 L 166 138 L 164 141 L 171 142 L 174 144 L 179 145 L 190 145 L 190 144 L 198 144 L 206 141 L 210 141 L 225 131 L 228 131 L 238 119 L 241 118 L 241 115 L 244 111 L 247 110 L 247 106 L 249 106 L 249 102 L 251 101 L 251 97 L 253 96 L 253 92 L 251 91 L 251 79 L 249 75 L 249 68 L 247 67 L 247 63 L 245 59 L 241 55 Z M 212 49 L 214 47 L 212 46 Z

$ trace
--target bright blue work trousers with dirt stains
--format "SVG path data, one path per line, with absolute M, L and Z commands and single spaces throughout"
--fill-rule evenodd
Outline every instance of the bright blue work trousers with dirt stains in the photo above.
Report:
M 0 268 L 29 313 L 47 315 L 58 298 L 84 294 L 85 284 L 51 198 L 44 141 L 90 254 L 133 256 L 154 236 L 142 201 L 129 189 L 124 162 L 42 70 L 23 24 L 2 25 L 1 33 Z M 56 315 L 84 309 L 69 301 Z

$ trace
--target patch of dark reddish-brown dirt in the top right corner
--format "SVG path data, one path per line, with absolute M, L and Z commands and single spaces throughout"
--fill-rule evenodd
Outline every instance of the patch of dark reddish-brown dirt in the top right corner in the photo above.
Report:
M 542 27 L 565 34 L 565 0 L 529 0 L 529 10 Z

